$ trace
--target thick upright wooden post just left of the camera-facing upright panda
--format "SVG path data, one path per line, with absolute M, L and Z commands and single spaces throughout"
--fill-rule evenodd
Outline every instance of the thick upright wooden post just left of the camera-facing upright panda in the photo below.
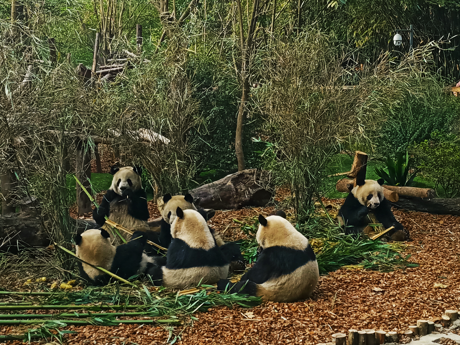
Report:
M 91 151 L 89 148 L 85 152 L 83 140 L 77 142 L 77 152 L 75 157 L 75 174 L 77 179 L 91 195 L 89 180 L 91 178 Z M 81 189 L 80 184 L 76 183 L 77 188 L 77 213 L 83 214 L 91 212 L 91 200 L 88 195 Z

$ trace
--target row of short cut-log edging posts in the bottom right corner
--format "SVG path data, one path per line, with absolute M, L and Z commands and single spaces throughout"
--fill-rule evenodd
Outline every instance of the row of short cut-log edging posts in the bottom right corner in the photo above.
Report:
M 401 335 L 406 338 L 419 339 L 433 332 L 439 333 L 443 327 L 448 327 L 457 320 L 458 317 L 458 311 L 446 310 L 444 315 L 434 321 L 417 320 L 416 325 L 408 326 L 408 330 Z M 383 330 L 375 331 L 374 329 L 363 329 L 358 331 L 356 329 L 349 329 L 348 334 L 332 334 L 332 342 L 319 343 L 317 345 L 381 345 L 397 342 L 398 333 L 394 331 L 385 332 Z

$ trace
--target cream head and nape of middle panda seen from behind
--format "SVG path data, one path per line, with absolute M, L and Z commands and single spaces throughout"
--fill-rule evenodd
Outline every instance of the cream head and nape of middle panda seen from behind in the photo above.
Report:
M 183 210 L 183 216 L 174 219 L 171 235 L 173 239 L 183 240 L 190 248 L 209 250 L 216 245 L 206 220 L 192 209 Z

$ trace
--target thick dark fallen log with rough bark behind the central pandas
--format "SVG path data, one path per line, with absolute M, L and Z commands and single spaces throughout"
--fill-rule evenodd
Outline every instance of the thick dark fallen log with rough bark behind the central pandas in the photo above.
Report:
M 275 195 L 275 189 L 270 183 L 269 172 L 247 169 L 195 188 L 190 194 L 201 198 L 200 207 L 203 208 L 240 209 L 266 206 Z

